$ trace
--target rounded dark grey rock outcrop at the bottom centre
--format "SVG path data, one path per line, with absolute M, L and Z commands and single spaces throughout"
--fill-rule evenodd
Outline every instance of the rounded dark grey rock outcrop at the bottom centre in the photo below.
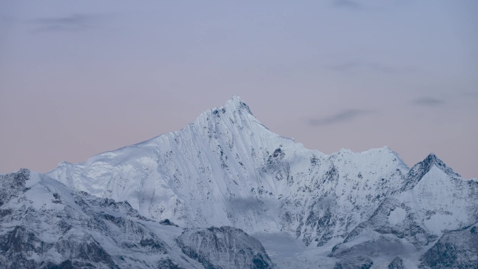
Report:
M 238 228 L 191 229 L 182 233 L 178 243 L 184 254 L 205 268 L 273 268 L 261 243 Z

